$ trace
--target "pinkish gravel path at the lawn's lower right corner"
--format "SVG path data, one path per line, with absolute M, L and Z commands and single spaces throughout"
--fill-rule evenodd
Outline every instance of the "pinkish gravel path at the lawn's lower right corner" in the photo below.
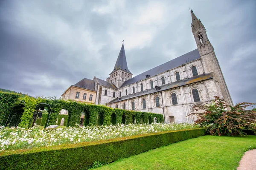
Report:
M 244 153 L 237 170 L 256 170 L 256 149 Z

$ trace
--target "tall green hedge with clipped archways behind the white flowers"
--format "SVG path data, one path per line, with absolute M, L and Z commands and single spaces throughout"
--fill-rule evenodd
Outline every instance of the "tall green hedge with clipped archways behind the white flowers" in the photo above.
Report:
M 1 98 L 1 96 L 4 97 Z M 19 111 L 20 114 L 19 116 L 12 116 L 12 118 L 14 119 L 10 119 L 12 120 L 10 122 L 12 125 L 15 125 L 15 123 L 17 125 L 17 122 L 19 122 L 19 126 L 26 128 L 32 125 L 33 112 L 38 109 L 43 110 L 44 108 L 47 109 L 48 114 L 43 114 L 43 119 L 36 120 L 36 123 L 38 125 L 44 125 L 45 127 L 49 125 L 55 125 L 57 119 L 57 124 L 60 124 L 62 117 L 59 117 L 59 113 L 61 109 L 65 109 L 68 111 L 68 117 L 67 119 L 65 118 L 65 125 L 72 127 L 76 126 L 76 124 L 80 124 L 81 113 L 84 113 L 85 126 L 111 124 L 115 125 L 116 123 L 131 124 L 135 122 L 137 124 L 151 124 L 153 122 L 163 122 L 163 115 L 161 114 L 127 111 L 118 108 L 113 109 L 102 105 L 85 104 L 71 100 L 64 101 L 55 98 L 43 99 L 38 97 L 35 99 L 30 96 L 20 98 L 22 101 L 25 102 L 25 104 L 23 104 L 23 102 L 18 102 L 18 97 L 20 97 L 20 95 L 0 92 L 0 120 L 3 120 L 3 115 L 6 111 L 8 112 L 7 116 L 9 116 L 12 109 L 8 110 L 8 108 L 13 108 L 13 105 L 17 103 L 16 110 L 13 111 L 15 113 Z M 45 116 L 47 116 L 47 118 L 45 118 Z

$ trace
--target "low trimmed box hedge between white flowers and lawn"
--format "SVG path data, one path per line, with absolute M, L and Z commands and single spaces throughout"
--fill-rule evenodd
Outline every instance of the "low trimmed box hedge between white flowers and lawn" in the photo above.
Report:
M 157 147 L 205 135 L 204 129 L 177 130 L 128 136 L 98 142 L 0 153 L 0 167 L 8 170 L 79 170 L 94 161 L 110 163 Z

